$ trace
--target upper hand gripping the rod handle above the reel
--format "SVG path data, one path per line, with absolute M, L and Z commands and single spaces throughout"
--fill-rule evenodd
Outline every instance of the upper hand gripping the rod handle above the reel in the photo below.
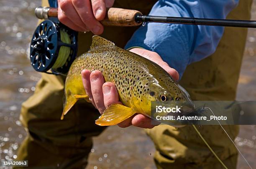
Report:
M 112 7 L 115 0 L 58 0 L 58 19 L 64 25 L 79 32 L 103 32 L 99 22 L 106 15 L 106 7 Z

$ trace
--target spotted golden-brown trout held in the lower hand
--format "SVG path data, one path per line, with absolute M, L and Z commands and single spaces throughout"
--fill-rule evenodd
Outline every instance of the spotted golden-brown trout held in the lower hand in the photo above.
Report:
M 151 117 L 152 101 L 174 101 L 183 110 L 194 110 L 189 94 L 156 63 L 115 46 L 100 36 L 92 37 L 90 50 L 72 63 L 65 82 L 64 109 L 61 119 L 78 99 L 88 100 L 82 84 L 81 71 L 99 70 L 106 82 L 113 82 L 121 104 L 112 104 L 95 121 L 100 126 L 115 125 L 135 113 Z M 180 101 L 185 101 L 186 105 Z M 165 114 L 166 115 L 166 114 Z

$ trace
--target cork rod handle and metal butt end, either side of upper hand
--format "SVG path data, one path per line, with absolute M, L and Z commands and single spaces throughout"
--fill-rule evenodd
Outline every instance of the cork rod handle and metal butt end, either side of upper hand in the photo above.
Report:
M 54 7 L 37 7 L 35 9 L 36 17 L 39 19 L 48 19 L 48 17 L 58 17 L 58 9 Z M 135 21 L 137 15 L 142 15 L 138 10 L 128 10 L 123 8 L 107 8 L 107 15 L 100 21 L 105 26 L 138 26 Z

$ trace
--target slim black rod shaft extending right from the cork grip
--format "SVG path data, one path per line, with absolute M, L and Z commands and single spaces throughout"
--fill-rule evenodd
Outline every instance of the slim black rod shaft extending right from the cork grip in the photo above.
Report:
M 193 17 L 162 17 L 149 15 L 136 15 L 136 22 L 160 22 L 160 23 L 176 23 L 187 25 L 210 25 L 225 27 L 251 27 L 256 28 L 254 20 L 221 20 L 221 19 L 202 19 Z

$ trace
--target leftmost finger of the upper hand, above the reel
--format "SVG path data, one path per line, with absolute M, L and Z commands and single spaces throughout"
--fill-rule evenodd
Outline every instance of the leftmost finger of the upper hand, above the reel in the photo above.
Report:
M 88 31 L 88 28 L 81 20 L 71 0 L 61 0 L 59 2 L 59 7 L 61 8 L 62 13 L 64 13 L 64 15 L 68 17 L 74 25 L 80 27 L 83 30 L 83 32 Z

